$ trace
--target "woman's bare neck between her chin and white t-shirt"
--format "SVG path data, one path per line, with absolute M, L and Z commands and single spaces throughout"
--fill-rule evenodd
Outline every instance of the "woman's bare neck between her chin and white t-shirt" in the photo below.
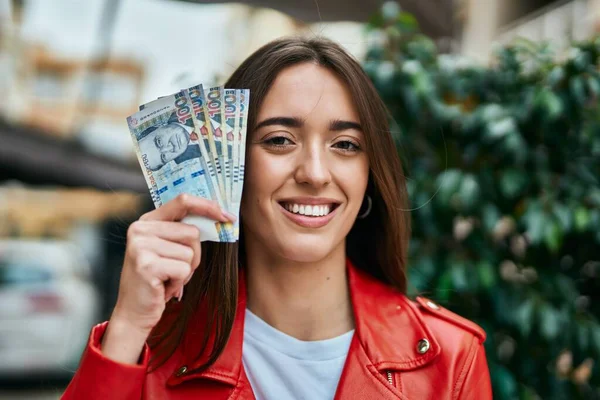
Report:
M 252 247 L 246 253 L 250 311 L 299 340 L 330 339 L 354 327 L 344 243 L 326 258 L 309 263 Z

